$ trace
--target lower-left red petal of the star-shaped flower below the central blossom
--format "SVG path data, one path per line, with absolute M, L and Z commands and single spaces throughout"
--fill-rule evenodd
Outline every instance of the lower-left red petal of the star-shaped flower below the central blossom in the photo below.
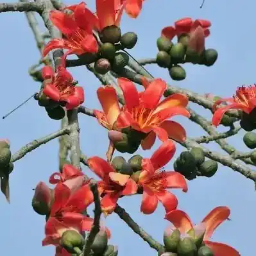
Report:
M 146 187 L 143 189 L 144 191 L 142 195 L 141 212 L 144 214 L 151 214 L 155 212 L 155 209 L 157 209 L 158 199 L 152 191 Z

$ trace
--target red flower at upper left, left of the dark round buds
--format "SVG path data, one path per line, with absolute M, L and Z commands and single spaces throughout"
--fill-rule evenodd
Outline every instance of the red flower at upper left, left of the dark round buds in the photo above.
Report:
M 94 13 L 85 8 L 83 2 L 68 6 L 67 9 L 73 10 L 74 13 L 69 15 L 60 11 L 51 11 L 51 22 L 65 35 L 65 38 L 54 38 L 48 42 L 43 51 L 43 56 L 46 56 L 53 49 L 67 49 L 62 59 L 64 67 L 67 55 L 98 52 L 98 42 L 92 33 L 92 28 L 97 26 L 98 22 Z

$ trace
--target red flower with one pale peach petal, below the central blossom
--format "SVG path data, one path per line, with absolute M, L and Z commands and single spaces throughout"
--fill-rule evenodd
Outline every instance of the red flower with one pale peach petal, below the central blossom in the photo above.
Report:
M 120 196 L 129 196 L 137 192 L 137 184 L 129 175 L 117 173 L 108 162 L 100 157 L 88 159 L 90 169 L 102 179 L 98 183 L 99 192 L 105 194 L 101 200 L 101 209 L 111 214 Z

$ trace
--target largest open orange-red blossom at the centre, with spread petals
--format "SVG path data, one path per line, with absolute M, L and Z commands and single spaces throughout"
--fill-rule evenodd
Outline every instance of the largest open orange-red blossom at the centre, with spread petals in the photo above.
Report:
M 155 79 L 149 83 L 143 80 L 145 90 L 138 92 L 134 83 L 126 78 L 118 78 L 118 83 L 123 90 L 125 105 L 119 107 L 115 89 L 106 86 L 97 90 L 98 99 L 104 112 L 94 110 L 99 123 L 108 130 L 132 126 L 134 130 L 148 133 L 142 140 L 142 148 L 150 149 L 156 139 L 156 134 L 161 141 L 168 137 L 176 141 L 184 141 L 186 133 L 184 128 L 175 121 L 167 120 L 173 115 L 189 117 L 186 110 L 188 99 L 183 94 L 173 94 L 163 101 L 160 98 L 166 90 L 166 82 Z

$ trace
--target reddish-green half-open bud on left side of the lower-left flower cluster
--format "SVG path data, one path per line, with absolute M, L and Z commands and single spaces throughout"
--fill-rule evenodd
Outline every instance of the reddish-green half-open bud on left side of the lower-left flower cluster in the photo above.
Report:
M 32 199 L 32 207 L 40 215 L 47 215 L 51 210 L 53 203 L 53 192 L 46 183 L 39 182 L 35 188 L 35 194 Z

